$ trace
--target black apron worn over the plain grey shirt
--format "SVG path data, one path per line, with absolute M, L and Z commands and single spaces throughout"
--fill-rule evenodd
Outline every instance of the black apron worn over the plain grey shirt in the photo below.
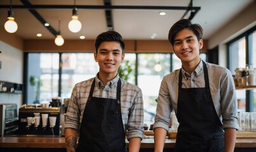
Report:
M 205 88 L 182 88 L 179 73 L 177 120 L 180 123 L 175 151 L 224 151 L 224 131 L 212 101 L 208 70 L 203 61 Z

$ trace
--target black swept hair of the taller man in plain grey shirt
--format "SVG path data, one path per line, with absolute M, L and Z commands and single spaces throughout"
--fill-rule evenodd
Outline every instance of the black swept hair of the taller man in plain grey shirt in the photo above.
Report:
M 192 32 L 196 35 L 198 38 L 198 41 L 202 39 L 203 37 L 203 28 L 197 24 L 197 23 L 192 23 L 190 20 L 187 19 L 182 19 L 176 22 L 169 30 L 168 34 L 168 40 L 173 46 L 174 38 L 175 35 L 180 32 L 180 30 L 183 30 L 184 28 L 189 28 L 192 30 Z

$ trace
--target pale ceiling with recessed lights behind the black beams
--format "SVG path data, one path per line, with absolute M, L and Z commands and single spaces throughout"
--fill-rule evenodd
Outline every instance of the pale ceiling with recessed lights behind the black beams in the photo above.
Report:
M 74 5 L 74 0 L 28 0 L 36 5 Z M 112 6 L 189 6 L 190 0 L 112 0 Z M 192 19 L 204 29 L 203 39 L 222 28 L 232 18 L 237 16 L 255 0 L 194 0 L 193 7 L 201 7 Z M 12 0 L 13 5 L 23 5 L 19 0 Z M 1 5 L 10 5 L 10 0 L 1 0 Z M 104 5 L 104 0 L 76 0 L 76 5 Z M 7 20 L 9 8 L 0 8 L 0 26 Z M 18 31 L 15 32 L 22 39 L 55 39 L 27 9 L 13 8 Z M 36 11 L 58 31 L 58 20 L 61 20 L 60 31 L 64 39 L 79 39 L 84 35 L 86 39 L 95 39 L 98 34 L 108 30 L 104 9 L 78 9 L 82 29 L 78 33 L 69 31 L 67 25 L 71 20 L 72 9 L 36 9 Z M 159 11 L 165 11 L 165 16 L 160 16 Z M 112 9 L 114 30 L 123 35 L 123 39 L 167 39 L 168 31 L 173 23 L 180 20 L 185 10 L 160 10 L 160 9 Z M 36 37 L 37 33 L 43 34 Z

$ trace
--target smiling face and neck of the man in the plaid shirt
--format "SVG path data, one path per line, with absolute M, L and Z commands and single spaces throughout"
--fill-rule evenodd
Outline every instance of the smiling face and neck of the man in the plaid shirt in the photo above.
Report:
M 118 68 L 125 58 L 119 42 L 102 42 L 94 53 L 94 59 L 100 66 L 99 78 L 112 80 L 118 73 Z

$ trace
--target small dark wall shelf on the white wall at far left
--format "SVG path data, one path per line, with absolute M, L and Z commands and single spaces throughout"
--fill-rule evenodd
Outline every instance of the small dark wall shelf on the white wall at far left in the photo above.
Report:
M 23 85 L 0 80 L 0 93 L 22 94 Z

